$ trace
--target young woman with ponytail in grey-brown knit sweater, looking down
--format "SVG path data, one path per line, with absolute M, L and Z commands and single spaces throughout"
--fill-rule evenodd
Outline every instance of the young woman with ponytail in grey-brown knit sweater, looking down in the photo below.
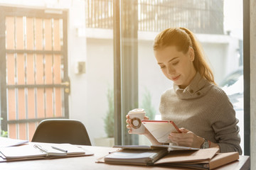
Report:
M 213 72 L 193 33 L 186 28 L 169 28 L 156 36 L 154 55 L 164 75 L 174 82 L 161 96 L 162 120 L 172 120 L 182 133 L 169 139 L 185 147 L 218 147 L 220 152 L 239 152 L 240 136 L 232 103 L 216 86 Z M 145 118 L 147 119 L 147 118 Z M 127 128 L 132 133 L 127 115 Z M 145 131 L 153 145 L 159 142 Z

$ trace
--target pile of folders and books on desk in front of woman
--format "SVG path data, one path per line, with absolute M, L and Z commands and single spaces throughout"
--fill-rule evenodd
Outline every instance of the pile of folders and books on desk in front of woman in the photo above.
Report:
M 153 166 L 174 166 L 192 169 L 215 169 L 239 159 L 238 152 L 218 153 L 218 148 L 196 149 L 184 147 L 171 150 L 157 145 L 119 146 L 121 149 L 112 152 L 98 162 L 107 164 L 137 164 Z

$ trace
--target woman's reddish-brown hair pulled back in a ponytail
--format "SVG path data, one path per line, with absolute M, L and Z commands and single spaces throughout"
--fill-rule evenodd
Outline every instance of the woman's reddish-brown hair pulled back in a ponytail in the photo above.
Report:
M 154 40 L 154 50 L 159 50 L 163 47 L 174 45 L 179 51 L 184 54 L 188 52 L 189 47 L 192 47 L 195 52 L 195 59 L 193 65 L 197 72 L 208 81 L 216 84 L 209 65 L 206 62 L 206 58 L 203 55 L 203 49 L 200 43 L 196 40 L 193 33 L 187 28 L 168 28 L 163 30 Z

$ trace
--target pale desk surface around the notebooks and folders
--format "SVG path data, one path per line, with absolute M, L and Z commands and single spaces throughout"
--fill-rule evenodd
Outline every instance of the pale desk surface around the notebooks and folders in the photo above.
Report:
M 159 167 L 159 166 L 129 166 L 129 165 L 112 165 L 112 164 L 102 164 L 95 163 L 96 159 L 99 157 L 103 157 L 108 154 L 108 152 L 112 152 L 115 149 L 110 147 L 91 147 L 91 146 L 83 146 L 85 149 L 93 152 L 94 156 L 89 157 L 69 157 L 63 159 L 38 159 L 38 160 L 30 160 L 30 161 L 20 161 L 20 162 L 1 162 L 0 169 L 8 170 L 8 169 L 38 169 L 38 170 L 51 170 L 51 169 L 112 169 L 112 170 L 132 170 L 132 169 L 170 169 L 169 167 Z M 174 168 L 171 168 L 174 169 Z M 240 156 L 239 161 L 227 164 L 218 169 L 221 170 L 236 170 L 236 169 L 250 169 L 250 157 L 248 156 Z

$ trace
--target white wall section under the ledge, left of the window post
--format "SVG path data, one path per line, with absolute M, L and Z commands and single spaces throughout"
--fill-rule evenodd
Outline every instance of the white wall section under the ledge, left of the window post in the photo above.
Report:
M 90 139 L 94 143 L 97 137 L 106 137 L 104 129 L 107 113 L 107 89 L 113 89 L 114 62 L 112 40 L 87 38 L 87 102 L 80 110 L 85 111 L 84 118 Z M 77 100 L 81 96 L 77 96 Z M 74 115 L 79 116 L 79 115 Z

